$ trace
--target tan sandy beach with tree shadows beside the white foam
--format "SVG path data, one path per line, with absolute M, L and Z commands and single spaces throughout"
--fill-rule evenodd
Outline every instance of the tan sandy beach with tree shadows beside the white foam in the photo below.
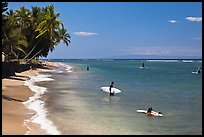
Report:
M 25 124 L 35 113 L 29 110 L 23 102 L 32 97 L 34 93 L 24 85 L 29 80 L 28 76 L 38 75 L 41 71 L 53 71 L 56 63 L 44 62 L 46 69 L 28 70 L 16 73 L 16 76 L 2 79 L 2 134 L 3 135 L 25 135 L 29 128 L 39 129 L 36 124 Z

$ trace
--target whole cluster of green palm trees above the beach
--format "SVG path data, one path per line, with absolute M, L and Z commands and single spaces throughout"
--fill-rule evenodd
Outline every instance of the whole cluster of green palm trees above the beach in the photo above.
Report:
M 9 60 L 47 57 L 61 41 L 67 46 L 70 35 L 54 6 L 45 8 L 25 7 L 8 11 L 8 3 L 2 2 L 2 52 Z

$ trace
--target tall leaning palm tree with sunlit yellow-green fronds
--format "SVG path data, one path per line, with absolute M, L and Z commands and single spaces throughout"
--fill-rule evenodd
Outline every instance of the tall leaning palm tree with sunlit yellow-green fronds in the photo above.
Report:
M 56 32 L 55 27 L 59 26 L 61 23 L 56 18 L 59 17 L 59 13 L 54 13 L 54 6 L 48 6 L 46 8 L 43 8 L 40 17 L 38 18 L 38 26 L 35 30 L 35 40 L 37 41 L 36 44 L 33 46 L 33 48 L 30 50 L 30 52 L 25 56 L 25 58 L 31 56 L 30 59 L 33 59 L 37 56 L 43 55 L 43 50 L 45 52 L 49 52 L 47 48 L 49 48 L 49 45 L 54 45 L 55 41 L 53 38 L 56 38 L 58 36 L 58 32 Z M 45 42 L 46 41 L 46 42 Z

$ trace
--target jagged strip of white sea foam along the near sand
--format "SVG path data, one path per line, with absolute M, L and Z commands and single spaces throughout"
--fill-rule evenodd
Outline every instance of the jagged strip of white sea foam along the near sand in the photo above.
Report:
M 29 76 L 30 79 L 25 81 L 24 85 L 28 86 L 31 91 L 35 92 L 35 95 L 29 97 L 28 101 L 23 102 L 23 104 L 30 110 L 35 111 L 35 115 L 29 119 L 25 120 L 24 124 L 27 126 L 27 122 L 31 121 L 33 123 L 40 124 L 41 128 L 46 130 L 47 134 L 60 135 L 60 132 L 53 125 L 52 121 L 47 119 L 47 110 L 44 107 L 44 102 L 40 100 L 41 95 L 47 92 L 47 88 L 35 85 L 36 82 L 40 81 L 52 81 L 54 79 L 49 78 L 51 75 L 37 75 Z M 30 127 L 29 131 L 31 130 Z M 29 134 L 29 131 L 26 134 Z

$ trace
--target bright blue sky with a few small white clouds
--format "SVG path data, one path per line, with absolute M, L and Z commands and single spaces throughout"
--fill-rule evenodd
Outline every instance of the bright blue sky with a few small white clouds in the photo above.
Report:
M 48 59 L 202 58 L 202 2 L 8 2 L 53 4 L 71 36 Z

